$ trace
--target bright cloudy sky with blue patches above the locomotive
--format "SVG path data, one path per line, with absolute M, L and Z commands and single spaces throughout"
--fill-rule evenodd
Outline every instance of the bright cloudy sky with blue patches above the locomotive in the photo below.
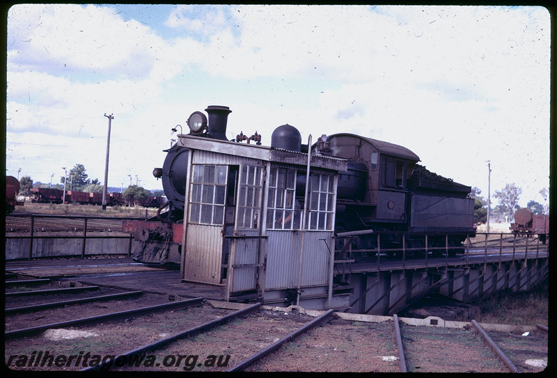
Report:
M 171 128 L 226 105 L 227 136 L 289 123 L 404 145 L 487 196 L 549 187 L 549 12 L 540 7 L 19 4 L 8 11 L 6 174 L 162 189 Z

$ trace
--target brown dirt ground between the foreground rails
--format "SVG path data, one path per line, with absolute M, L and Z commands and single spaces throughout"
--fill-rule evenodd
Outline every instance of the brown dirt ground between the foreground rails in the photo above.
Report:
M 6 308 L 41 301 L 108 294 L 102 289 L 53 297 L 10 298 Z M 52 324 L 78 317 L 90 317 L 169 303 L 168 296 L 143 294 L 131 299 L 77 304 L 49 310 L 5 316 L 6 331 Z M 85 354 L 117 356 L 141 345 L 217 319 L 233 310 L 210 304 L 164 310 L 62 329 L 48 329 L 34 336 L 5 340 L 5 359 L 14 370 L 80 370 L 87 365 Z M 148 353 L 151 365 L 143 363 L 120 370 L 221 371 L 237 365 L 276 340 L 313 320 L 301 313 L 260 310 L 244 315 L 192 338 L 178 340 Z M 494 353 L 473 329 L 444 329 L 401 325 L 405 359 L 410 372 L 507 372 Z M 492 336 L 501 349 L 524 372 L 539 372 L 547 364 L 547 334 L 531 337 L 499 333 Z M 72 357 L 56 366 L 40 365 L 30 359 L 41 354 Z M 38 360 L 38 358 L 37 358 Z M 79 363 L 77 363 L 79 360 Z M 48 361 L 47 361 L 48 362 Z M 251 372 L 398 372 L 399 356 L 392 321 L 349 322 L 335 317 L 302 334 L 247 369 Z M 85 365 L 84 365 L 85 364 Z

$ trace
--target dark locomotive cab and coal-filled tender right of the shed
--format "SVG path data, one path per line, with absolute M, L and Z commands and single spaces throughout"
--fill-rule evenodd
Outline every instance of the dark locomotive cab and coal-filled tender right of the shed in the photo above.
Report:
M 344 185 L 338 196 L 336 230 L 372 231 L 361 234 L 355 249 L 380 246 L 382 251 L 391 249 L 389 254 L 398 255 L 406 242 L 411 251 L 426 253 L 430 247 L 446 251 L 443 247 L 448 240 L 450 254 L 454 254 L 461 250 L 466 234 L 473 234 L 473 200 L 466 198 L 470 187 L 444 178 L 443 182 L 422 179 L 420 174 L 427 170 L 418 166 L 420 159 L 411 150 L 353 134 L 322 136 L 313 148 L 349 160 L 349 171 L 341 172 L 340 179 L 350 176 L 354 164 L 365 175 L 363 180 Z M 430 176 L 441 178 L 434 173 Z M 380 242 L 377 233 L 384 233 Z M 438 235 L 427 239 L 427 233 Z M 440 233 L 452 235 L 446 239 Z

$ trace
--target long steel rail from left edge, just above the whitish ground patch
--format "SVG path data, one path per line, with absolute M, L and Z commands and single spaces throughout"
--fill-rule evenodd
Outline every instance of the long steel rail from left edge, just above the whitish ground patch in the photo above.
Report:
M 49 328 L 59 328 L 59 327 L 62 327 L 62 326 L 74 326 L 74 325 L 77 325 L 77 324 L 97 322 L 99 320 L 113 319 L 113 318 L 116 318 L 116 317 L 127 316 L 127 315 L 136 315 L 138 313 L 148 313 L 148 312 L 151 312 L 151 311 L 164 310 L 164 309 L 167 309 L 167 308 L 174 308 L 174 307 L 180 307 L 180 306 L 198 306 L 202 302 L 203 302 L 203 298 L 198 297 L 198 298 L 194 298 L 194 299 L 186 299 L 185 301 L 171 302 L 171 303 L 168 303 L 168 304 L 159 304 L 159 305 L 156 305 L 156 306 L 134 308 L 132 310 L 119 311 L 118 313 L 109 313 L 109 314 L 103 314 L 103 315 L 96 315 L 96 316 L 92 316 L 92 317 L 82 317 L 80 319 L 66 320 L 65 322 L 45 324 L 45 325 L 42 325 L 42 326 L 34 326 L 34 327 L 31 327 L 31 328 L 16 329 L 15 331 L 8 331 L 8 332 L 4 333 L 4 338 L 13 338 L 13 337 L 18 337 L 18 336 L 25 336 L 25 335 L 30 335 L 30 334 L 33 334 L 33 333 L 38 333 L 40 331 L 45 331 L 46 329 L 49 329 Z

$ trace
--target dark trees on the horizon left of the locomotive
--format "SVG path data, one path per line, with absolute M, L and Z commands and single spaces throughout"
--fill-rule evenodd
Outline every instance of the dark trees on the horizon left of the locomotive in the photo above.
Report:
M 33 179 L 31 179 L 30 176 L 24 175 L 22 176 L 22 178 L 19 179 L 19 195 L 30 196 L 31 188 L 52 188 L 63 190 L 64 183 L 65 190 L 84 191 L 87 193 L 101 193 L 102 182 L 100 182 L 97 178 L 91 180 L 90 178 L 88 178 L 88 175 L 87 173 L 85 173 L 85 171 L 86 168 L 83 164 L 75 164 L 75 166 L 71 168 L 70 171 L 68 171 L 68 175 L 66 175 L 65 177 L 61 176 L 60 181 L 56 184 L 43 183 L 40 181 L 33 182 Z M 123 192 L 123 196 L 128 205 L 133 204 L 137 206 L 138 203 L 141 203 L 148 196 L 164 196 L 164 191 L 149 191 L 148 189 L 139 187 L 138 185 L 130 185 Z

